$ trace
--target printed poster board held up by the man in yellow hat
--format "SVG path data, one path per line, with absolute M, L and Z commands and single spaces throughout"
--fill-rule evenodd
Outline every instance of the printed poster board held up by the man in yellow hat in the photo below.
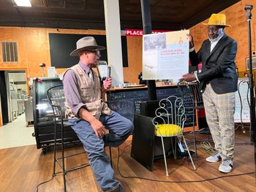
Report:
M 189 72 L 189 30 L 143 35 L 143 80 L 178 82 Z

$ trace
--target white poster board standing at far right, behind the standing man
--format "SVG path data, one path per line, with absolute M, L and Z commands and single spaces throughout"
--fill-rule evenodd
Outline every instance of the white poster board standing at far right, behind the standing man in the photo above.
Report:
M 250 101 L 250 95 L 249 95 L 248 82 L 249 82 L 248 78 L 238 79 L 238 91 L 236 91 L 236 110 L 234 114 L 235 123 L 250 122 L 250 109 L 249 109 L 249 103 L 248 103 L 248 101 Z M 239 93 L 240 93 L 241 99 L 240 99 Z M 247 96 L 248 96 L 248 99 L 247 99 Z

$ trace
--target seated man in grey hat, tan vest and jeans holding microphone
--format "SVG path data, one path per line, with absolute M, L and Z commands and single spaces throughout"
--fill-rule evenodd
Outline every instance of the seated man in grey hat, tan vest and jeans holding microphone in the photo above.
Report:
M 123 191 L 121 183 L 114 179 L 114 172 L 105 146 L 118 147 L 132 133 L 133 123 L 110 110 L 102 101 L 102 91 L 110 88 L 107 78 L 101 88 L 99 75 L 91 69 L 99 62 L 99 50 L 94 37 L 83 37 L 77 49 L 70 53 L 80 61 L 64 74 L 64 93 L 67 115 L 72 129 L 88 153 L 89 163 L 102 191 Z M 102 90 L 101 90 L 102 89 Z

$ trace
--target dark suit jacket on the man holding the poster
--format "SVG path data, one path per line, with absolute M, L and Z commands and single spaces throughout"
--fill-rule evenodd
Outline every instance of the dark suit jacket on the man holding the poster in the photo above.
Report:
M 195 50 L 189 53 L 192 65 L 197 65 L 200 61 L 203 64 L 202 72 L 197 74 L 200 90 L 204 90 L 206 84 L 210 82 L 215 93 L 237 91 L 236 41 L 224 34 L 211 53 L 210 49 L 211 42 L 206 39 L 198 53 L 195 53 Z

